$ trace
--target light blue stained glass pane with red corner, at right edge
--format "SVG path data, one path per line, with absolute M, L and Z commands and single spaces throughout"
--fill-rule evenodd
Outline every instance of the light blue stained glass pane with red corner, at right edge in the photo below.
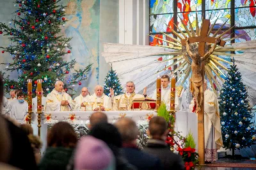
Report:
M 236 27 L 246 27 L 246 26 L 255 26 L 256 17 L 255 11 L 256 7 L 252 8 L 236 8 L 235 13 L 235 26 Z

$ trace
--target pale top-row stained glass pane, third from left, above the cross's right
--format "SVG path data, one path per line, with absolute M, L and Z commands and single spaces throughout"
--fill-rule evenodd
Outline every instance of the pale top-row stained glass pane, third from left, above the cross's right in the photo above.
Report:
M 230 1 L 231 0 L 205 0 L 205 10 L 230 8 Z

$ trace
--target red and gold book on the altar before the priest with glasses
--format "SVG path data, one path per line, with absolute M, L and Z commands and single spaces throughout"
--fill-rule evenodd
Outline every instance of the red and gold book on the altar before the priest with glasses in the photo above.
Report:
M 155 110 L 156 100 L 146 97 L 146 98 L 135 98 L 132 101 L 131 109 L 134 110 Z

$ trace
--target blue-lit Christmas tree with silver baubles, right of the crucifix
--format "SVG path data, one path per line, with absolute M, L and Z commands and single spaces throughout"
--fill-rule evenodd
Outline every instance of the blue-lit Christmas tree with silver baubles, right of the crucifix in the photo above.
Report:
M 255 130 L 252 122 L 253 113 L 248 102 L 248 94 L 238 72 L 233 65 L 220 93 L 221 130 L 224 148 L 234 150 L 250 146 L 255 141 Z

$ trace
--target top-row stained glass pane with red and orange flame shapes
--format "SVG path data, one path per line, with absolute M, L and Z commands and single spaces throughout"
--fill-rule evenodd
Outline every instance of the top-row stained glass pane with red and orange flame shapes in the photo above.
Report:
M 177 0 L 178 12 L 195 12 L 202 10 L 201 0 Z

